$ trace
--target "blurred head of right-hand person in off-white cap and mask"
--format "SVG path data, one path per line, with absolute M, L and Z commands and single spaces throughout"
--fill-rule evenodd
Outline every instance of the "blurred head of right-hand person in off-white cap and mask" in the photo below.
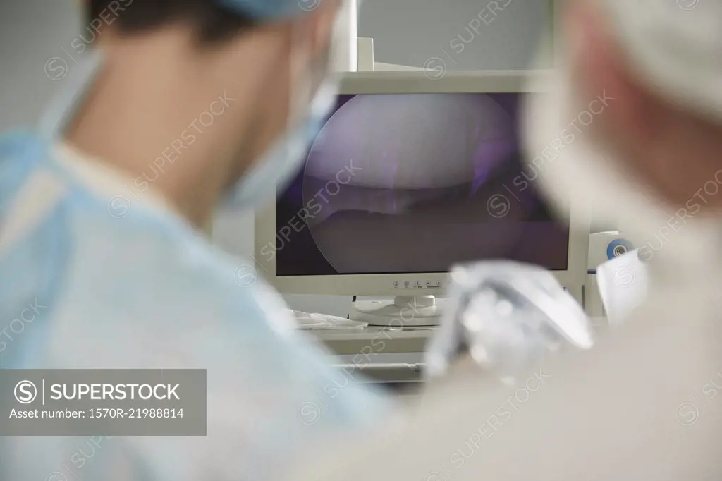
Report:
M 722 3 L 576 0 L 561 13 L 551 94 L 526 126 L 532 157 L 559 146 L 544 190 L 560 212 L 582 204 L 637 247 L 658 237 L 658 257 L 704 267 L 722 215 Z

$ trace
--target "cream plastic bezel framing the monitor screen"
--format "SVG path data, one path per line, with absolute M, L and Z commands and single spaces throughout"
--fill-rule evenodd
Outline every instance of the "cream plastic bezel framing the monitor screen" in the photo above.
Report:
M 539 92 L 531 85 L 531 77 L 544 76 L 544 71 L 483 71 L 447 73 L 443 77 L 433 78 L 426 72 L 363 72 L 344 74 L 341 79 L 339 93 L 384 94 L 384 93 L 508 93 L 508 92 Z M 567 269 L 551 271 L 560 284 L 567 287 L 570 293 L 583 300 L 583 285 L 586 282 L 589 219 L 573 208 L 570 212 L 570 237 L 567 258 Z M 277 276 L 276 259 L 264 259 L 261 248 L 269 242 L 275 242 L 276 204 L 275 199 L 263 209 L 258 209 L 255 216 L 254 261 L 258 274 L 283 294 L 309 295 L 360 295 L 360 296 L 394 296 L 394 295 L 443 295 L 448 286 L 448 273 L 409 273 L 409 274 L 336 274 L 311 276 Z M 273 244 L 275 245 L 275 243 Z M 422 282 L 438 287 L 412 287 L 405 289 L 404 281 Z M 396 285 L 399 287 L 395 287 Z

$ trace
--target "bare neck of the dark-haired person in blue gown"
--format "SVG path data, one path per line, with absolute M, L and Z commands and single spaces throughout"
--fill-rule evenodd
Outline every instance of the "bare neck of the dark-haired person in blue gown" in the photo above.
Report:
M 243 100 L 174 46 L 185 44 L 158 40 L 145 42 L 142 53 L 138 45 L 106 49 L 103 71 L 66 140 L 128 174 L 129 188 L 153 189 L 207 230 L 232 175 L 235 152 L 227 139 L 243 131 Z

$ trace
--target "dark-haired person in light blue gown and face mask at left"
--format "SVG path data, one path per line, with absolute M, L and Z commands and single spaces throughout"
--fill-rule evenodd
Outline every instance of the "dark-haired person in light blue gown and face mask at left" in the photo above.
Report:
M 0 366 L 206 369 L 207 436 L 0 438 L 0 480 L 277 479 L 386 402 L 203 232 L 300 169 L 342 5 L 84 6 L 113 22 L 82 35 L 38 129 L 0 142 Z

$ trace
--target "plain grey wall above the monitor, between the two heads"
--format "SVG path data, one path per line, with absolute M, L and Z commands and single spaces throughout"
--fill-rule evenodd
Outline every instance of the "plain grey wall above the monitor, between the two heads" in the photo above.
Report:
M 430 58 L 441 58 L 453 70 L 524 69 L 549 24 L 551 4 L 549 0 L 364 0 L 359 36 L 374 39 L 375 61 L 383 64 L 424 67 Z M 495 6 L 500 9 L 492 12 Z

